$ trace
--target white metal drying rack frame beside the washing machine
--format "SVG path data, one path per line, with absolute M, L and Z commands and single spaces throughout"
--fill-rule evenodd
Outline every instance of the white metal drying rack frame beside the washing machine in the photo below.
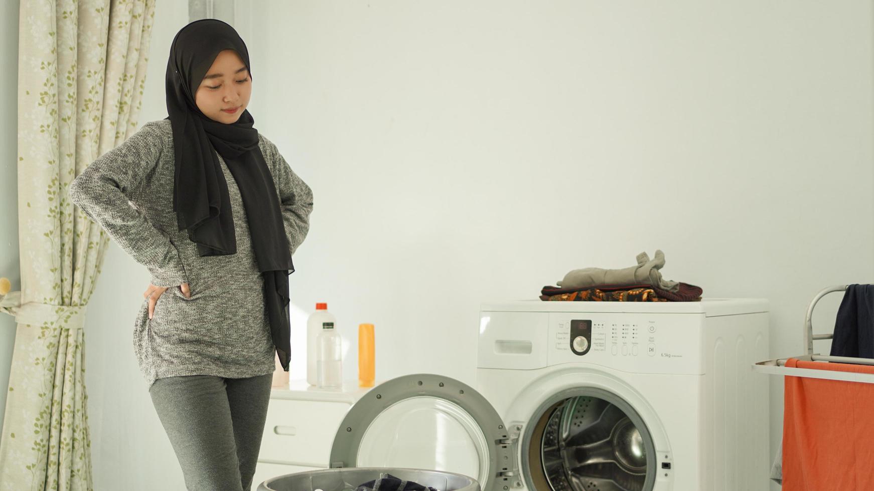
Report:
M 854 365 L 874 365 L 874 358 L 855 358 L 855 357 L 833 357 L 829 355 L 821 355 L 814 353 L 814 341 L 819 339 L 831 339 L 834 333 L 829 334 L 814 334 L 813 313 L 814 307 L 822 297 L 835 291 L 846 291 L 847 285 L 829 286 L 820 290 L 819 293 L 810 301 L 808 305 L 808 313 L 804 317 L 804 344 L 808 348 L 808 352 L 796 358 L 803 361 L 819 361 L 823 363 L 836 362 Z M 766 361 L 760 361 L 753 365 L 753 371 L 761 373 L 769 373 L 772 375 L 791 375 L 793 377 L 807 378 L 826 378 L 829 380 L 847 380 L 850 382 L 864 382 L 874 384 L 874 373 L 857 373 L 857 372 L 834 372 L 830 370 L 815 370 L 812 368 L 795 368 L 786 366 L 788 358 L 775 358 Z

